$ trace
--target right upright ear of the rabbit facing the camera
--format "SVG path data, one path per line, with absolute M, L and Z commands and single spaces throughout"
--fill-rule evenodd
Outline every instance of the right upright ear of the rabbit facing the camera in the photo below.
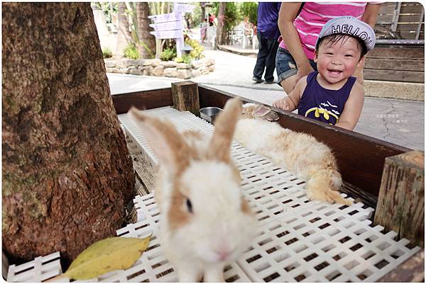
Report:
M 231 161 L 229 152 L 241 111 L 241 101 L 239 99 L 232 98 L 226 102 L 224 111 L 214 123 L 215 129 L 209 144 L 209 158 L 219 159 L 227 163 Z

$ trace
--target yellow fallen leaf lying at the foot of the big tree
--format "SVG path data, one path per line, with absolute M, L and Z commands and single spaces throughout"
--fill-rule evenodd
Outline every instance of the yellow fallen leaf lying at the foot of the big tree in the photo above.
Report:
M 151 236 L 145 239 L 124 237 L 102 239 L 84 249 L 62 276 L 84 280 L 116 269 L 127 269 L 141 257 L 150 239 Z

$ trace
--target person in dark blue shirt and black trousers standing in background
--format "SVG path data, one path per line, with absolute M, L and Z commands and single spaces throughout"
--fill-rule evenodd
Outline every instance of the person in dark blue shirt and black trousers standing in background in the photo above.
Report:
M 252 78 L 256 83 L 263 82 L 263 72 L 265 72 L 265 83 L 274 83 L 273 71 L 275 70 L 275 56 L 279 44 L 278 38 L 280 37 L 280 30 L 278 29 L 280 6 L 280 2 L 260 2 L 258 4 L 257 37 L 259 52 Z

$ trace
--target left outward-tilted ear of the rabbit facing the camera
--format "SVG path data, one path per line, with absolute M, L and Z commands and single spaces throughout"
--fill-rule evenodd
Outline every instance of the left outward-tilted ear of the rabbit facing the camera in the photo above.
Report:
M 168 121 L 161 121 L 131 107 L 130 118 L 146 138 L 160 164 L 175 174 L 187 161 L 188 146 L 182 135 Z

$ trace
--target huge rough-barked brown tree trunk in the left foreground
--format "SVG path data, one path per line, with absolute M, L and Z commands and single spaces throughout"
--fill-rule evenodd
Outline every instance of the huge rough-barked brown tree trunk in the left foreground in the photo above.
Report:
M 90 4 L 2 7 L 3 249 L 69 263 L 123 226 L 133 164 Z

